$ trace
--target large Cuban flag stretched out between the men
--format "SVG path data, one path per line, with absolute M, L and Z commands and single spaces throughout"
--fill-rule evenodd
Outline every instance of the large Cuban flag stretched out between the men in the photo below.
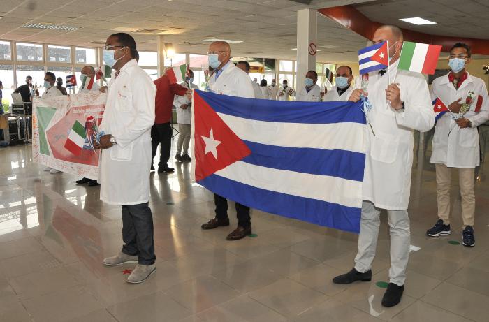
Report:
M 365 167 L 360 107 L 196 90 L 195 180 L 254 209 L 358 233 Z

